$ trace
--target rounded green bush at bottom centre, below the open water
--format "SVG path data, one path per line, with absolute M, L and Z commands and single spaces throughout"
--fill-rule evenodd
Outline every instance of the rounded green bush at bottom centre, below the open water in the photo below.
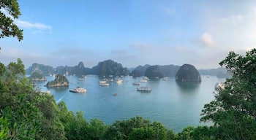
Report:
M 143 117 L 116 121 L 105 132 L 105 139 L 174 139 L 173 131 L 168 131 L 162 123 L 151 123 Z

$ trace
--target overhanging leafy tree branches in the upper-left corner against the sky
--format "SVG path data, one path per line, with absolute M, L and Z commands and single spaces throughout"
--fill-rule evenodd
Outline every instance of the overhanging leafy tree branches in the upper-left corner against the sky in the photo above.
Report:
M 15 25 L 14 20 L 21 15 L 17 0 L 1 0 L 0 9 L 4 9 L 7 13 L 0 11 L 0 38 L 4 36 L 17 37 L 18 41 L 23 39 L 23 30 Z

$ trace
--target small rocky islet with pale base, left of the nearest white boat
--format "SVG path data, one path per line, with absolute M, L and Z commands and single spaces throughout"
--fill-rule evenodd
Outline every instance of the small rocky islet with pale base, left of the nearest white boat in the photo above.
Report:
M 69 81 L 61 74 L 57 74 L 53 81 L 46 84 L 46 87 L 66 87 L 69 86 Z

